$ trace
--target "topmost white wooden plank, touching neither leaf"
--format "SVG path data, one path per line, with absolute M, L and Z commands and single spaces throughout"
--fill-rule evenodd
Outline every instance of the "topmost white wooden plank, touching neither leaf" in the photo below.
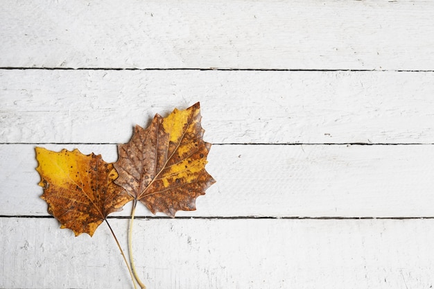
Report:
M 433 8 L 374 0 L 11 1 L 0 8 L 0 67 L 433 70 Z

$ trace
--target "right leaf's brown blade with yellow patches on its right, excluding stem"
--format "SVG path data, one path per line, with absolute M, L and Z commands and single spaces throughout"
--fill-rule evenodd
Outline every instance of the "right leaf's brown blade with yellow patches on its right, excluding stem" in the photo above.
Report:
M 200 105 L 155 115 L 146 130 L 136 125 L 132 139 L 119 145 L 115 183 L 153 213 L 174 217 L 196 209 L 196 198 L 215 180 L 205 170 L 211 143 L 203 141 Z

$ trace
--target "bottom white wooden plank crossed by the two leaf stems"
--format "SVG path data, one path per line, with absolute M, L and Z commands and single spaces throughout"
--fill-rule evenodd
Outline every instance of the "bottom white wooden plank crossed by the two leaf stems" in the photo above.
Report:
M 128 220 L 110 220 L 125 247 Z M 431 288 L 432 220 L 137 220 L 148 288 Z M 0 218 L 1 288 L 132 288 L 110 231 Z

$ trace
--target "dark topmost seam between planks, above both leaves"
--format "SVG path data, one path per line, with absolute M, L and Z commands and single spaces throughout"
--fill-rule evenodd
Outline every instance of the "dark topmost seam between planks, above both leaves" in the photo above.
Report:
M 171 70 L 186 70 L 186 71 L 351 71 L 351 72 L 434 72 L 433 69 L 253 69 L 253 68 L 225 68 L 225 67 L 172 67 L 172 68 L 134 68 L 134 67 L 0 67 L 0 70 L 112 70 L 112 71 L 171 71 Z

